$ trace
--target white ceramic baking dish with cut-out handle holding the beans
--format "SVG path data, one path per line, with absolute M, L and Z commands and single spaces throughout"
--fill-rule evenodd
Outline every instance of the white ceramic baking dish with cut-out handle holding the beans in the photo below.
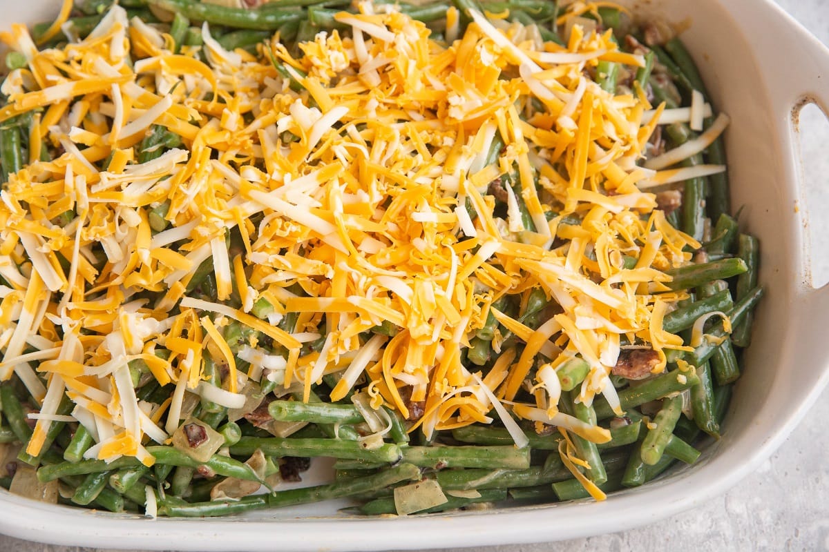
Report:
M 628 2 L 631 3 L 631 2 Z M 0 493 L 0 532 L 61 545 L 155 550 L 383 550 L 541 542 L 630 529 L 725 492 L 783 442 L 829 380 L 829 287 L 811 285 L 797 113 L 829 113 L 829 50 L 769 0 L 650 0 L 638 13 L 688 22 L 694 53 L 718 108 L 732 199 L 762 242 L 768 294 L 756 317 L 722 439 L 700 461 L 606 502 L 395 519 L 352 519 L 331 505 L 210 520 L 50 506 Z M 51 17 L 57 0 L 0 0 L 2 24 Z M 817 209 L 812 214 L 817 215 Z

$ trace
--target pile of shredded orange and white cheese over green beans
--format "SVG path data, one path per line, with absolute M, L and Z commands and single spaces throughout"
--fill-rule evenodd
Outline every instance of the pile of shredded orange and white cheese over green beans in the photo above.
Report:
M 584 12 L 574 6 L 565 19 Z M 248 382 L 268 377 L 308 399 L 329 374 L 332 401 L 366 389 L 371 406 L 427 435 L 489 423 L 494 407 L 504 420 L 511 410 L 606 441 L 606 430 L 557 411 L 550 374 L 584 358 L 579 400 L 604 394 L 620 412 L 608 375 L 623 339 L 656 349 L 656 371 L 666 349 L 682 348 L 662 316 L 686 294 L 663 285 L 664 271 L 700 244 L 642 190 L 690 176 L 655 170 L 676 159 L 639 163 L 664 106 L 587 76 L 603 60 L 643 64 L 610 31 L 576 24 L 557 46 L 534 26 L 489 17 L 475 14 L 454 37 L 448 8 L 447 46 L 394 8 L 364 3 L 337 15 L 349 32 L 320 33 L 296 57 L 274 40 L 258 59 L 223 50 L 207 25 L 205 61 L 199 48 L 174 55 L 170 36 L 118 6 L 61 49 L 37 50 L 23 26 L 0 36 L 28 62 L 4 84 L 0 120 L 38 110 L 32 143 L 62 151 L 39 161 L 33 147 L 0 194 L 0 377 L 16 374 L 39 403 L 27 451 L 65 419 L 64 394 L 94 436 L 87 458 L 150 465 L 143 445 L 167 442 L 187 392 L 239 407 Z M 182 146 L 139 163 L 152 125 Z M 493 182 L 507 194 L 503 217 Z M 150 212 L 164 203 L 168 226 L 155 232 Z M 216 300 L 187 291 L 203 262 Z M 492 308 L 504 295 L 526 305 L 540 286 L 557 306 L 538 329 Z M 272 309 L 259 319 L 262 300 Z M 280 329 L 290 313 L 296 324 Z M 521 341 L 496 333 L 494 367 L 473 373 L 464 352 L 490 313 Z M 273 342 L 245 343 L 246 373 L 225 342 L 231 320 Z M 396 334 L 367 333 L 383 324 Z M 318 352 L 308 347 L 321 339 Z M 166 358 L 154 354 L 162 348 Z M 229 366 L 221 389 L 206 382 L 207 356 Z M 162 404 L 138 401 L 136 359 L 175 386 Z M 534 402 L 516 402 L 522 387 Z M 417 402 L 422 414 L 410 410 Z

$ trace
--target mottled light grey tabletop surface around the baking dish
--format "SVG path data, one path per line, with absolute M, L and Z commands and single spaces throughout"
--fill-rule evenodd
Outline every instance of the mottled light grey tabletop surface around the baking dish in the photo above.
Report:
M 829 0 L 776 0 L 824 44 L 829 44 Z M 792 52 L 792 55 L 797 53 Z M 811 185 L 810 204 L 829 205 L 829 122 L 817 109 L 801 118 L 802 158 Z M 812 211 L 814 213 L 814 211 Z M 829 218 L 811 221 L 813 269 L 829 280 Z M 538 545 L 478 548 L 478 552 L 567 550 L 829 550 L 829 391 L 777 454 L 753 475 L 709 505 L 641 529 L 588 539 Z M 124 546 L 129 546 L 128 542 Z M 175 544 L 171 543 L 171 550 Z M 435 552 L 461 552 L 452 549 Z M 0 552 L 112 552 L 76 546 L 41 545 L 0 535 Z

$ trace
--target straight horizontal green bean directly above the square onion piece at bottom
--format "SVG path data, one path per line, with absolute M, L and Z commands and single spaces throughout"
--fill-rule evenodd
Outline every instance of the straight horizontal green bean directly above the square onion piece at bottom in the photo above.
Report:
M 530 447 L 457 446 L 401 447 L 403 461 L 421 468 L 507 468 L 530 467 Z

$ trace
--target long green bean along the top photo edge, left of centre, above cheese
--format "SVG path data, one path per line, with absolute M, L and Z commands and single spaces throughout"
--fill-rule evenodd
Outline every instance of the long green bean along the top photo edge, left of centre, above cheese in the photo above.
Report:
M 245 9 L 196 2 L 196 0 L 147 0 L 147 3 L 168 12 L 181 13 L 182 16 L 194 21 L 260 31 L 276 31 L 284 23 L 302 17 L 302 10 L 290 7 Z

